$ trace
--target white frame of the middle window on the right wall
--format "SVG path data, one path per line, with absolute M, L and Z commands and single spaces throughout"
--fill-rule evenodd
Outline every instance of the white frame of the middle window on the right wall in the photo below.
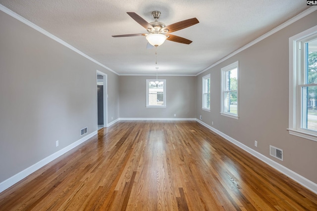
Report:
M 237 114 L 225 111 L 225 93 L 231 92 L 226 90 L 226 72 L 237 68 Z M 233 62 L 223 68 L 221 68 L 221 111 L 222 116 L 239 119 L 239 61 Z

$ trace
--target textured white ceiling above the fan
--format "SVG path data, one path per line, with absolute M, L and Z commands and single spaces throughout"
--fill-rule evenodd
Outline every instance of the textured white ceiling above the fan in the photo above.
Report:
M 126 12 L 148 22 L 159 10 L 170 25 L 196 17 L 200 23 L 173 32 L 191 44 L 165 41 L 158 47 L 159 74 L 196 75 L 308 9 L 305 0 L 0 0 L 10 10 L 79 49 L 114 72 L 156 73 L 155 48 L 145 37 L 111 35 L 147 33 Z

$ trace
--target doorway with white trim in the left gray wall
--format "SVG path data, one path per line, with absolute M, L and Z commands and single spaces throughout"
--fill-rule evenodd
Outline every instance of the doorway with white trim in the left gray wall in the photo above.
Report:
M 97 129 L 107 127 L 107 75 L 97 71 Z

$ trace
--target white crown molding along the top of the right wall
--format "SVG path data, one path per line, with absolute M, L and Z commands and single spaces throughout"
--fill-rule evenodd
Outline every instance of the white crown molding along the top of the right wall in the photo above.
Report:
M 262 35 L 261 37 L 255 39 L 255 40 L 252 41 L 252 42 L 249 42 L 248 44 L 244 45 L 243 47 L 239 48 L 238 50 L 236 50 L 236 51 L 230 53 L 230 54 L 227 55 L 226 57 L 224 57 L 224 58 L 220 59 L 219 61 L 213 63 L 211 66 L 209 66 L 209 67 L 205 68 L 204 70 L 202 70 L 201 72 L 197 73 L 196 76 L 198 76 L 198 75 L 204 73 L 205 71 L 207 71 L 207 70 L 211 69 L 212 67 L 214 67 L 214 66 L 220 64 L 221 62 L 227 60 L 228 58 L 231 58 L 232 56 L 234 56 L 234 55 L 240 53 L 241 51 L 243 51 L 243 50 L 245 50 L 245 49 L 251 47 L 252 45 L 254 45 L 254 44 L 256 44 L 256 43 L 258 43 L 258 42 L 260 42 L 260 41 L 263 41 L 265 38 L 267 38 L 267 37 L 273 35 L 274 33 L 276 33 L 276 32 L 278 32 L 278 31 L 284 29 L 285 27 L 287 27 L 287 26 L 291 25 L 292 23 L 294 23 L 294 22 L 300 20 L 301 18 L 303 18 L 303 17 L 305 17 L 305 16 L 311 14 L 311 13 L 314 12 L 315 10 L 317 10 L 317 6 L 311 6 L 310 8 L 308 8 L 308 9 L 306 9 L 305 11 L 299 13 L 299 14 L 296 15 L 295 17 L 289 19 L 288 21 L 286 21 L 286 22 L 282 23 L 281 25 L 275 27 L 275 28 L 272 29 L 271 31 L 265 33 L 265 34 Z

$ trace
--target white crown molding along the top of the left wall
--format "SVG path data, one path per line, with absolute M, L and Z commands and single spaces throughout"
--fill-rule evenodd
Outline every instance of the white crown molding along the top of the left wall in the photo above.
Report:
M 106 68 L 108 71 L 111 71 L 112 73 L 119 75 L 118 73 L 116 73 L 115 71 L 111 70 L 110 68 L 106 67 L 105 65 L 103 65 L 102 63 L 100 63 L 99 61 L 93 59 L 92 57 L 88 56 L 87 54 L 81 52 L 80 50 L 78 50 L 77 48 L 73 47 L 72 45 L 68 44 L 67 42 L 62 41 L 61 39 L 57 38 L 56 36 L 52 35 L 51 33 L 49 33 L 48 31 L 42 29 L 41 27 L 35 25 L 34 23 L 32 23 L 31 21 L 25 19 L 24 17 L 22 17 L 21 15 L 18 15 L 17 13 L 13 12 L 12 10 L 6 8 L 5 6 L 3 6 L 2 4 L 0 4 L 0 10 L 5 12 L 6 14 L 12 16 L 13 18 L 21 21 L 22 23 L 28 25 L 29 27 L 35 29 L 36 31 L 42 33 L 43 35 L 46 35 L 47 37 L 51 38 L 52 40 L 59 42 L 60 44 L 64 45 L 65 47 L 68 47 L 69 49 L 75 51 L 76 53 L 84 56 L 85 58 L 89 59 L 90 61 L 102 66 L 103 68 Z

